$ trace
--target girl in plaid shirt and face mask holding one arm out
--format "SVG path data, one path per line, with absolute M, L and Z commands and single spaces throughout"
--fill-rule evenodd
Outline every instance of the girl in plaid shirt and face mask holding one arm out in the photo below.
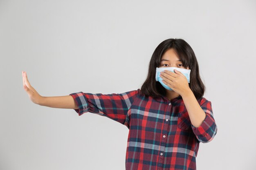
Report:
M 22 77 L 35 104 L 73 108 L 79 116 L 96 113 L 127 126 L 126 170 L 196 170 L 200 142 L 211 141 L 217 132 L 211 102 L 203 97 L 197 59 L 182 39 L 161 42 L 141 89 L 125 93 L 43 97 L 25 72 Z

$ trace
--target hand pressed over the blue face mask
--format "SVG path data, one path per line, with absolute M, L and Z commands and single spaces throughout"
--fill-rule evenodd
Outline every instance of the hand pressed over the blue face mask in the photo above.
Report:
M 161 72 L 160 77 L 163 79 L 164 84 L 182 96 L 188 90 L 191 90 L 189 88 L 189 82 L 180 71 L 174 69 L 174 72 L 175 73 L 169 70 L 164 70 Z

